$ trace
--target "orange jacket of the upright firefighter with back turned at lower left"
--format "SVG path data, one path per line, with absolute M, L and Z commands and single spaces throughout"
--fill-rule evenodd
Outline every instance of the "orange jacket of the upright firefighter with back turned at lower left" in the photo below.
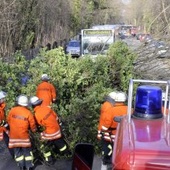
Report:
M 30 110 L 23 106 L 12 108 L 7 116 L 10 127 L 9 148 L 31 147 L 29 129 L 36 131 L 36 122 Z

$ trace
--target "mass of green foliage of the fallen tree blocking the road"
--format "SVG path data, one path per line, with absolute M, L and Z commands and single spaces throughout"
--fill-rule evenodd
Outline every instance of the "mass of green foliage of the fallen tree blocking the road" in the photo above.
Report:
M 20 94 L 35 95 L 41 75 L 47 73 L 57 89 L 58 99 L 53 109 L 63 120 L 70 149 L 78 142 L 90 142 L 100 152 L 96 135 L 104 96 L 115 89 L 127 91 L 129 78 L 133 78 L 135 55 L 128 47 L 117 42 L 108 56 L 98 56 L 95 60 L 90 56 L 73 59 L 61 47 L 42 49 L 31 61 L 26 61 L 20 52 L 12 59 L 9 64 L 0 62 L 0 88 L 8 93 L 8 108 Z M 26 85 L 21 84 L 22 75 L 30 78 Z

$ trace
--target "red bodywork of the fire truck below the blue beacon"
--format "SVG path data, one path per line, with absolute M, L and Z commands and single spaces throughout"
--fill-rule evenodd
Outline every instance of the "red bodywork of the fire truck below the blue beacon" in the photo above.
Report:
M 166 119 L 128 123 L 124 117 L 117 128 L 113 153 L 115 170 L 170 169 L 170 124 Z

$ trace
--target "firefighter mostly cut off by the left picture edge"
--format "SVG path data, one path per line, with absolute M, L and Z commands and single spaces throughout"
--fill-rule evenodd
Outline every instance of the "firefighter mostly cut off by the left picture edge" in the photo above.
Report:
M 6 123 L 5 118 L 5 97 L 5 92 L 0 91 L 0 141 L 4 138 L 4 132 L 8 133 L 8 130 L 6 129 L 8 124 Z

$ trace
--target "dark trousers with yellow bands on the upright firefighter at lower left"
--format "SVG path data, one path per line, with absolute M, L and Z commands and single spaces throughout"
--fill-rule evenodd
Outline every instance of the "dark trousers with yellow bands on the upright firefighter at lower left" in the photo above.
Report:
M 32 148 L 14 148 L 14 159 L 19 167 L 30 168 L 33 167 Z

